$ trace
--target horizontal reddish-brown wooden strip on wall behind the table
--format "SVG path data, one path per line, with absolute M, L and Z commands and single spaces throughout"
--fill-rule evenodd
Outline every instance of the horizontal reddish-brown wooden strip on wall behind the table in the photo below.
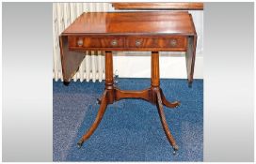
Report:
M 202 10 L 203 3 L 112 3 L 115 9 Z

